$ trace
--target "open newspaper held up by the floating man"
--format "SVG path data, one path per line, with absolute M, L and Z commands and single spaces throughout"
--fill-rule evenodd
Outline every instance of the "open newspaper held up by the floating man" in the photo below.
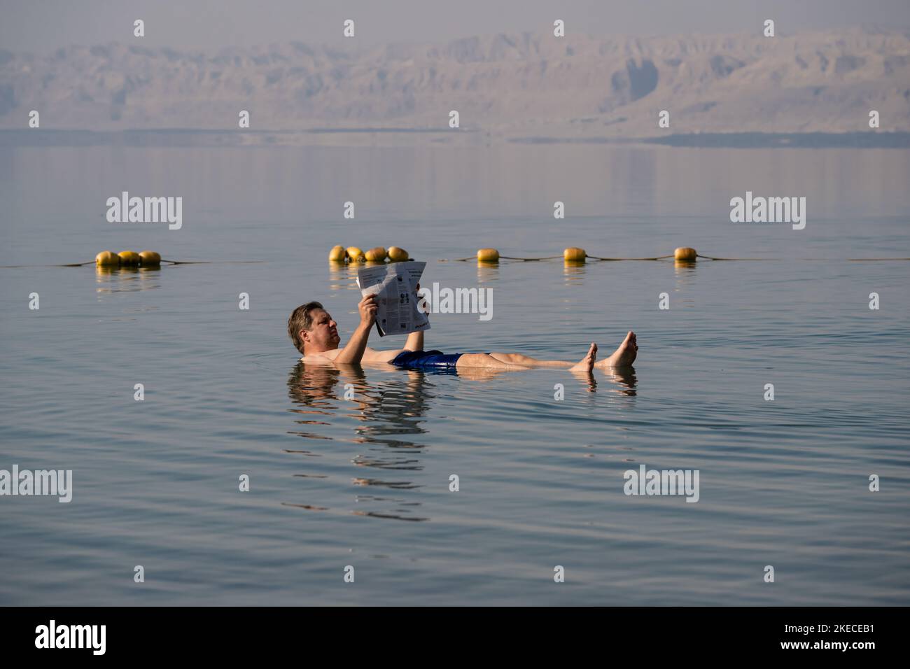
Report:
M 430 320 L 418 308 L 415 293 L 425 262 L 392 262 L 357 270 L 362 297 L 376 295 L 376 329 L 379 337 L 430 329 Z

